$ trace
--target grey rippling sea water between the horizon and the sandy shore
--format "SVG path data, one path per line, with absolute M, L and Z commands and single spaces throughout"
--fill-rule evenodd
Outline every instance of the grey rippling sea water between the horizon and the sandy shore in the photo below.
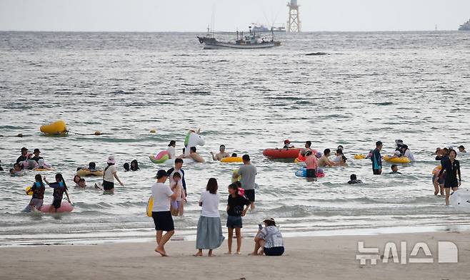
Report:
M 176 236 L 194 238 L 199 195 L 219 181 L 221 217 L 233 164 L 210 160 L 225 144 L 251 155 L 258 168 L 256 211 L 244 218 L 252 234 L 274 217 L 286 235 L 461 229 L 468 213 L 434 197 L 436 147 L 469 145 L 470 37 L 459 32 L 301 33 L 281 35 L 267 50 L 202 50 L 196 33 L 0 33 L 0 160 L 8 170 L 21 147 L 39 147 L 61 172 L 76 208 L 64 215 L 21 213 L 35 172 L 0 172 L 0 244 L 153 240 L 145 208 L 159 165 L 148 156 L 189 128 L 201 128 L 204 164 L 186 165 L 189 203 Z M 306 56 L 307 53 L 326 53 Z M 39 126 L 66 120 L 67 137 Z M 155 129 L 156 133 L 149 133 Z M 99 130 L 104 135 L 79 135 Z M 22 133 L 24 138 L 6 137 Z M 78 134 L 77 134 L 78 133 Z M 299 165 L 267 160 L 262 151 L 289 138 L 319 150 L 344 145 L 348 167 L 326 168 L 308 182 Z M 403 139 L 416 162 L 402 176 L 373 176 L 355 153 Z M 125 186 L 115 195 L 77 190 L 76 167 L 104 166 L 115 155 Z M 122 165 L 137 159 L 138 172 Z M 459 157 L 469 187 L 469 157 Z M 389 168 L 384 164 L 384 171 Z M 166 167 L 167 168 L 167 167 Z M 355 173 L 364 185 L 347 185 Z M 88 185 L 99 179 L 87 178 Z M 46 190 L 45 202 L 51 202 Z

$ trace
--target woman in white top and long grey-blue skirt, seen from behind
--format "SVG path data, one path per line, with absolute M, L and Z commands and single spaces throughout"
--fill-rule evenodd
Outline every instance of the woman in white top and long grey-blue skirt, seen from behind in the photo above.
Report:
M 209 249 L 209 256 L 213 256 L 212 250 L 219 248 L 224 242 L 222 225 L 219 214 L 220 195 L 217 192 L 219 186 L 215 178 L 207 182 L 206 192 L 201 194 L 199 206 L 202 207 L 201 217 L 197 223 L 196 249 L 194 256 L 202 256 L 203 249 Z

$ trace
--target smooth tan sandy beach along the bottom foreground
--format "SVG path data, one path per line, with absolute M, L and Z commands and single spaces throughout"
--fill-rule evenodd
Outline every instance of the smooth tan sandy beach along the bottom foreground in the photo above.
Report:
M 431 264 L 396 264 L 382 259 L 361 265 L 357 242 L 365 248 L 386 242 L 407 242 L 407 254 L 416 242 L 426 242 Z M 458 263 L 438 263 L 439 241 L 454 242 Z M 213 257 L 194 257 L 194 242 L 169 242 L 170 257 L 153 252 L 154 243 L 89 246 L 27 246 L 0 248 L 0 279 L 469 279 L 469 232 L 381 234 L 374 236 L 292 237 L 285 239 L 280 257 L 247 256 L 251 239 L 244 239 L 240 256 L 226 256 L 226 243 Z M 206 252 L 205 252 L 206 253 Z M 424 256 L 421 249 L 417 257 Z

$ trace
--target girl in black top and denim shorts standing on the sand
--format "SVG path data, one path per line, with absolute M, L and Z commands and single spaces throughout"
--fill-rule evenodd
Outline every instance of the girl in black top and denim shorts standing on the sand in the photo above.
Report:
M 251 202 L 239 195 L 239 187 L 236 183 L 229 185 L 229 199 L 227 201 L 227 228 L 229 229 L 229 252 L 231 254 L 231 243 L 234 240 L 234 229 L 236 234 L 236 254 L 240 254 L 241 249 L 241 228 L 243 222 L 241 217 L 244 217 L 250 207 Z

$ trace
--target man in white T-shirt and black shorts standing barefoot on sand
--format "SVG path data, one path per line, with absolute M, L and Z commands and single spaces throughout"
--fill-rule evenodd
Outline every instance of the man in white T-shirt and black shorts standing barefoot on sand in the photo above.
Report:
M 155 252 L 161 256 L 168 256 L 165 251 L 165 244 L 174 234 L 173 217 L 170 212 L 171 199 L 176 199 L 181 193 L 172 192 L 169 185 L 166 185 L 168 174 L 165 170 L 159 170 L 156 173 L 156 183 L 151 187 L 151 195 L 154 197 L 152 207 L 152 218 L 154 218 L 156 230 L 156 249 Z M 163 234 L 166 232 L 166 234 Z

